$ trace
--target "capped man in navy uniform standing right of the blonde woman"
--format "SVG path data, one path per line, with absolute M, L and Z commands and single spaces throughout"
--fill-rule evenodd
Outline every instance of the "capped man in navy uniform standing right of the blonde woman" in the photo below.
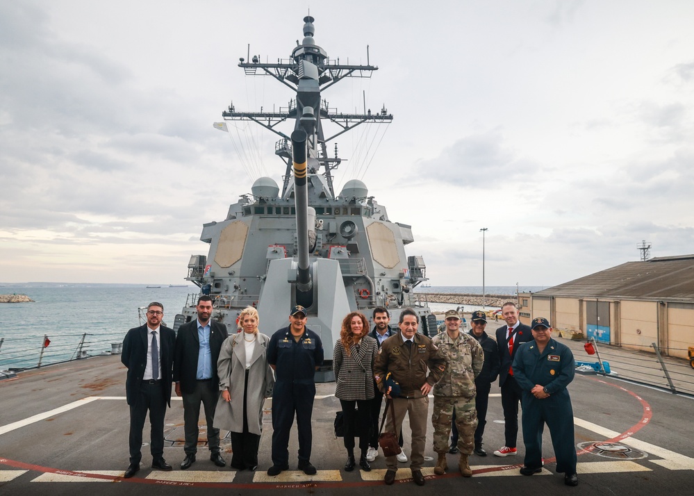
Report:
M 272 467 L 267 475 L 289 469 L 289 432 L 297 415 L 299 470 L 315 474 L 311 465 L 311 414 L 315 371 L 323 364 L 320 337 L 306 329 L 306 308 L 292 308 L 289 326 L 279 329 L 267 345 L 267 362 L 275 371 L 272 391 Z

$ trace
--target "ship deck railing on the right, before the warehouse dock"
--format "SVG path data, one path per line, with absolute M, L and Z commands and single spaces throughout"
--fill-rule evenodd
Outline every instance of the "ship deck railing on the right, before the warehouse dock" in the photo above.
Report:
M 694 370 L 690 360 L 678 358 L 687 356 L 687 349 L 664 349 L 655 342 L 641 350 L 627 349 L 598 342 L 593 337 L 588 342 L 593 345 L 595 354 L 579 349 L 574 350 L 574 358 L 577 362 L 592 364 L 598 374 L 655 386 L 673 394 L 694 395 Z

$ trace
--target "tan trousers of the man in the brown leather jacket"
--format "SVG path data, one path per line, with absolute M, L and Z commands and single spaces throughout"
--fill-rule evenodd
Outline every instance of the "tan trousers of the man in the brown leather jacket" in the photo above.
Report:
M 395 428 L 393 427 L 390 406 L 388 406 L 386 429 L 390 432 L 395 432 L 395 436 L 399 436 L 402 429 L 402 421 L 405 418 L 405 413 L 407 413 L 410 420 L 410 429 L 412 430 L 410 468 L 412 470 L 421 470 L 424 463 L 424 447 L 427 444 L 429 397 L 425 396 L 415 399 L 393 398 L 390 401 L 393 402 L 395 407 Z M 397 471 L 397 458 L 395 456 L 386 456 L 386 466 L 388 470 Z

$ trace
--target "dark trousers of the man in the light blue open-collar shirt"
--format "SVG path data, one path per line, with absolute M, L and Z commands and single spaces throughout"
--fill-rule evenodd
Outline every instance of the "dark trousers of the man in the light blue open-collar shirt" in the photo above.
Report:
M 213 424 L 217 394 L 217 384 L 213 383 L 212 379 L 197 381 L 195 390 L 183 393 L 183 431 L 185 432 L 183 451 L 186 455 L 197 452 L 197 422 L 200 418 L 200 404 L 205 408 L 207 445 L 213 454 L 220 452 L 220 429 L 215 429 Z

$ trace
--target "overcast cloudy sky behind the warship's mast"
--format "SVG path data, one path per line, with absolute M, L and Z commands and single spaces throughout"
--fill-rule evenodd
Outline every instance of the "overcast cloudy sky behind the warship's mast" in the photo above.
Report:
M 433 286 L 481 286 L 483 227 L 488 286 L 694 253 L 691 1 L 0 0 L 0 281 L 185 282 L 202 224 L 281 181 L 275 135 L 212 124 L 286 106 L 238 58 L 288 58 L 309 7 L 379 66 L 331 108 L 394 115 L 337 140 L 336 189 L 411 224 Z

